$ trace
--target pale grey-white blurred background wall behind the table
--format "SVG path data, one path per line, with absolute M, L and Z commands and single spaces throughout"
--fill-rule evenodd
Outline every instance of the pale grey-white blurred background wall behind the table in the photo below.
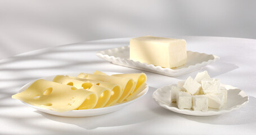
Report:
M 142 35 L 256 38 L 256 1 L 0 1 L 0 59 Z

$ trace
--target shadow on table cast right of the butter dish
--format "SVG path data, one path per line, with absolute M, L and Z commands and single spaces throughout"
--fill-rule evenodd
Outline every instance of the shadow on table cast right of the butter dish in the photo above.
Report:
M 218 75 L 228 73 L 228 72 L 230 72 L 232 70 L 235 70 L 235 69 L 238 69 L 238 68 L 239 68 L 239 66 L 237 66 L 235 64 L 216 61 L 212 65 L 205 66 L 204 68 L 201 69 L 201 71 L 204 71 L 204 70 L 208 71 L 210 77 L 214 78 L 214 77 L 217 77 Z M 176 77 L 176 78 L 177 79 L 182 79 L 182 80 L 187 79 L 187 77 L 189 77 L 189 76 L 194 78 L 194 77 L 196 77 L 196 74 L 198 72 L 200 72 L 200 71 L 197 70 L 197 71 L 194 71 L 192 73 L 181 75 L 180 77 Z

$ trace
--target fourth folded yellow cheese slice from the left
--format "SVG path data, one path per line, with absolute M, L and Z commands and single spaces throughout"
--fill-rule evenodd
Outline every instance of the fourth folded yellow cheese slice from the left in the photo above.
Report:
M 97 75 L 97 74 L 86 74 L 80 73 L 78 78 L 100 80 L 102 82 L 119 84 L 123 89 L 123 94 L 119 98 L 118 102 L 123 102 L 135 88 L 135 83 L 132 78 L 113 77 L 109 75 Z

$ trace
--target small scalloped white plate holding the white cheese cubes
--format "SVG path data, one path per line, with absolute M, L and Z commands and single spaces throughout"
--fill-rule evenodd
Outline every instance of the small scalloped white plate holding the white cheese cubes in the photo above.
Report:
M 176 102 L 170 103 L 170 88 L 176 84 L 165 86 L 153 93 L 154 100 L 165 109 L 174 111 L 180 114 L 192 115 L 192 116 L 213 116 L 228 113 L 233 110 L 240 109 L 249 102 L 249 97 L 244 91 L 239 88 L 221 84 L 221 88 L 227 89 L 227 103 L 219 110 L 210 109 L 208 111 L 194 111 L 190 109 L 178 109 Z

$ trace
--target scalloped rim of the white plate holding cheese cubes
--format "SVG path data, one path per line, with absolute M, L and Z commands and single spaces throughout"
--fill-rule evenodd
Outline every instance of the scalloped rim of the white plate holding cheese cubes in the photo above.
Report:
M 240 88 L 236 88 L 236 87 L 231 86 L 233 88 L 239 89 L 240 92 L 244 92 L 244 94 L 246 95 L 245 97 L 247 97 L 246 101 L 244 101 L 242 104 L 232 106 L 230 109 L 223 109 L 223 110 L 216 110 L 216 111 L 214 111 L 214 110 L 210 110 L 210 111 L 194 111 L 194 110 L 191 110 L 191 109 L 190 110 L 188 110 L 188 109 L 178 109 L 177 107 L 169 106 L 166 103 L 161 102 L 160 100 L 158 100 L 158 98 L 156 96 L 156 92 L 160 91 L 160 89 L 162 89 L 164 87 L 170 87 L 170 86 L 173 86 L 173 85 L 176 85 L 176 84 L 169 84 L 168 86 L 163 86 L 161 88 L 156 89 L 156 91 L 154 91 L 153 94 L 152 94 L 152 98 L 154 98 L 155 102 L 158 105 L 160 105 L 161 107 L 164 107 L 167 110 L 170 110 L 170 111 L 173 111 L 173 112 L 179 113 L 179 114 L 185 114 L 185 115 L 190 115 L 190 116 L 221 115 L 221 114 L 229 113 L 229 112 L 231 112 L 233 110 L 238 110 L 242 106 L 248 104 L 248 102 L 249 102 L 249 96 L 244 91 L 242 91 Z M 229 86 L 230 87 L 230 85 L 227 85 L 227 84 L 221 84 L 221 85 Z M 227 89 L 227 91 L 232 91 L 232 89 L 231 88 Z M 199 113 L 199 114 L 197 114 L 197 113 Z

